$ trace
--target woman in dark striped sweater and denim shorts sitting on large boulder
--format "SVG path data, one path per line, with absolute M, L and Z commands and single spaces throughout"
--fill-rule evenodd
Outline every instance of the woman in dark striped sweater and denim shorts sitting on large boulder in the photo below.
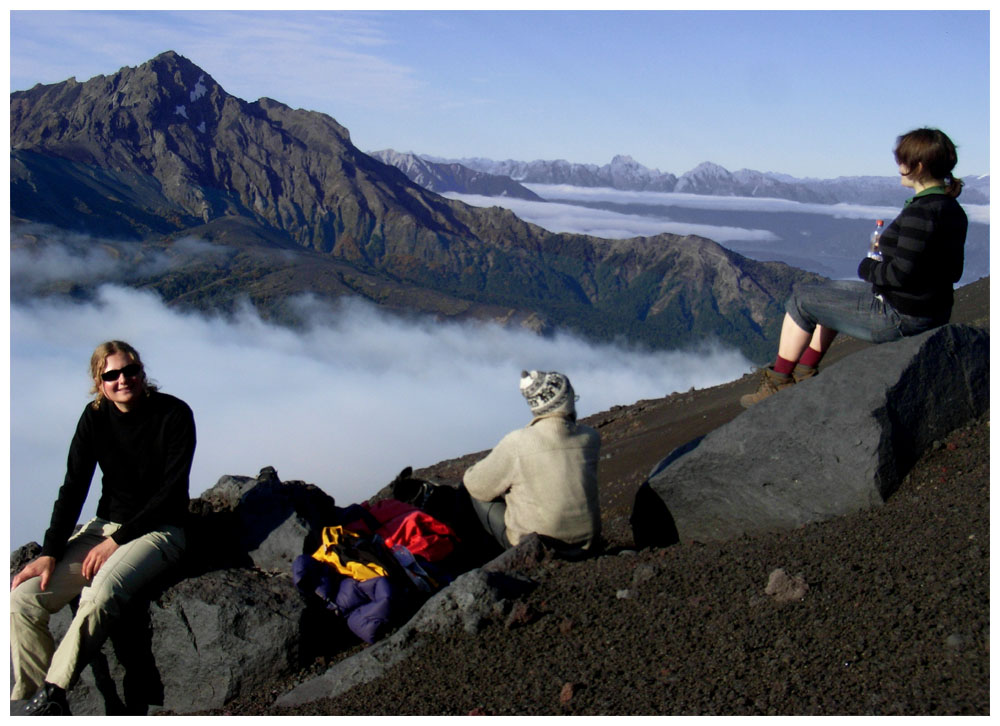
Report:
M 864 282 L 830 281 L 793 292 L 777 358 L 763 370 L 757 392 L 740 399 L 745 408 L 816 375 L 838 332 L 887 343 L 950 319 L 969 226 L 956 201 L 962 181 L 952 176 L 955 145 L 937 129 L 917 129 L 896 140 L 895 157 L 902 185 L 915 194 L 881 235 L 881 256 L 861 260 Z

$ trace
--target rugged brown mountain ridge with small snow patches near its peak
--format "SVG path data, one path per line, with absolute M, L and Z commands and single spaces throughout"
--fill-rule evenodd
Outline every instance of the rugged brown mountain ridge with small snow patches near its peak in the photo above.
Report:
M 445 199 L 359 151 L 329 116 L 230 96 L 172 51 L 84 83 L 12 93 L 11 212 L 151 244 L 194 235 L 240 247 L 259 305 L 362 287 L 317 279 L 329 260 L 364 276 L 377 302 L 406 288 L 411 311 L 445 296 L 654 347 L 719 338 L 755 358 L 792 283 L 812 277 L 702 238 L 554 234 L 498 207 Z M 257 248 L 313 256 L 282 267 Z M 174 270 L 144 285 L 168 301 L 235 296 L 212 274 Z M 199 296 L 206 287 L 213 294 Z

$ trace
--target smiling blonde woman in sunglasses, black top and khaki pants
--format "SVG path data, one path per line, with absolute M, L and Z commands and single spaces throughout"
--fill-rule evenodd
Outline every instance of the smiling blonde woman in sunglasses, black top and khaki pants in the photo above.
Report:
M 34 695 L 26 715 L 69 713 L 66 691 L 122 608 L 184 551 L 191 409 L 147 380 L 128 343 L 97 346 L 90 373 L 94 400 L 70 443 L 42 553 L 11 582 L 11 700 Z M 97 516 L 74 534 L 98 465 Z M 77 595 L 76 615 L 56 648 L 49 618 Z

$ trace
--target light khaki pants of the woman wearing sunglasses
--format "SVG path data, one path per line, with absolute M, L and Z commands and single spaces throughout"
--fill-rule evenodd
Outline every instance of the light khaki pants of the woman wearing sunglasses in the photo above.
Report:
M 45 591 L 39 589 L 40 578 L 33 577 L 11 592 L 11 700 L 31 698 L 43 681 L 68 690 L 104 644 L 121 609 L 184 551 L 184 530 L 164 527 L 119 547 L 93 581 L 85 580 L 80 570 L 87 553 L 119 527 L 104 519 L 90 520 L 70 538 Z M 57 649 L 49 618 L 77 595 L 80 606 Z

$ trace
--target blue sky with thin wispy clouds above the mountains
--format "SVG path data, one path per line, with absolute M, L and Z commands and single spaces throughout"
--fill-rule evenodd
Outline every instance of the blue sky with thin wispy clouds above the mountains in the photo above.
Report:
M 960 176 L 989 171 L 985 10 L 13 11 L 10 28 L 11 90 L 170 49 L 366 151 L 888 176 L 895 137 L 929 125 Z

